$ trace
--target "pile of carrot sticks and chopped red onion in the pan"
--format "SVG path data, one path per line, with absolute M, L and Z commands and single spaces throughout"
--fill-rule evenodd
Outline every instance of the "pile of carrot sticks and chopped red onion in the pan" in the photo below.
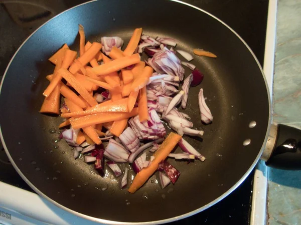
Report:
M 175 39 L 153 38 L 142 34 L 142 28 L 134 30 L 124 50 L 120 37 L 101 37 L 101 43 L 91 43 L 86 41 L 82 25 L 79 35 L 79 56 L 64 44 L 49 58 L 55 69 L 46 76 L 50 83 L 43 92 L 40 110 L 64 118 L 59 125 L 63 128 L 60 138 L 74 147 L 74 158 L 84 155 L 85 162 L 94 163 L 101 176 L 105 163 L 115 177 L 120 177 L 121 188 L 127 185 L 128 168 L 122 171 L 119 165 L 130 163 L 136 173 L 130 193 L 157 170 L 162 188 L 170 182 L 175 184 L 180 171 L 167 157 L 204 161 L 205 157 L 182 137 L 202 136 L 204 131 L 193 128 L 189 115 L 177 108 L 180 104 L 186 108 L 190 87 L 204 77 L 190 62 L 193 55 L 175 49 Z M 140 58 L 142 52 L 148 55 L 145 61 Z M 203 49 L 193 52 L 216 57 Z M 187 61 L 181 61 L 178 53 Z M 186 78 L 182 65 L 192 70 Z M 211 123 L 213 116 L 205 99 L 201 88 L 200 117 Z M 167 135 L 162 120 L 174 132 Z M 182 153 L 172 153 L 177 144 Z M 153 153 L 148 160 L 146 152 Z

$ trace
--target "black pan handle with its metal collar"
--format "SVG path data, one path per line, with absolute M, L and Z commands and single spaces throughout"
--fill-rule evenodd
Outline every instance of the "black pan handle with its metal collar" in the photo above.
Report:
M 261 159 L 270 167 L 301 170 L 301 130 L 272 125 Z

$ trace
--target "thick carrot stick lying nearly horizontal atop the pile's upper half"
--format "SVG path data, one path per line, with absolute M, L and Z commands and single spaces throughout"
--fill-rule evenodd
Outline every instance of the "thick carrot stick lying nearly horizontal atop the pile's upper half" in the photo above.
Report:
M 138 63 L 139 61 L 140 61 L 140 55 L 139 53 L 136 53 L 129 56 L 124 56 L 122 58 L 117 58 L 108 63 L 94 67 L 91 70 L 96 75 L 107 75 L 111 72 L 118 71 L 126 66 Z

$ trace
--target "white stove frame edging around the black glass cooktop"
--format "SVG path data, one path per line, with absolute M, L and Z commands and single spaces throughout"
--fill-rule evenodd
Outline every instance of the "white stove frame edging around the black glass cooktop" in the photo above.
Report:
M 272 96 L 277 1 L 269 1 L 263 70 Z M 267 167 L 260 161 L 254 174 L 251 225 L 266 222 Z M 99 224 L 67 212 L 36 193 L 0 182 L 0 224 Z

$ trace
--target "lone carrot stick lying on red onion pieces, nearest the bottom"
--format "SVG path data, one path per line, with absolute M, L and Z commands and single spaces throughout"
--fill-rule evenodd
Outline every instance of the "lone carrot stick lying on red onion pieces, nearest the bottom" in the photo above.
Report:
M 167 136 L 156 151 L 156 155 L 154 154 L 155 158 L 152 163 L 147 167 L 142 168 L 142 170 L 136 174 L 132 184 L 128 188 L 130 193 L 134 193 L 146 182 L 146 180 L 158 169 L 159 163 L 169 155 L 181 138 L 182 136 L 174 132 L 171 132 Z

